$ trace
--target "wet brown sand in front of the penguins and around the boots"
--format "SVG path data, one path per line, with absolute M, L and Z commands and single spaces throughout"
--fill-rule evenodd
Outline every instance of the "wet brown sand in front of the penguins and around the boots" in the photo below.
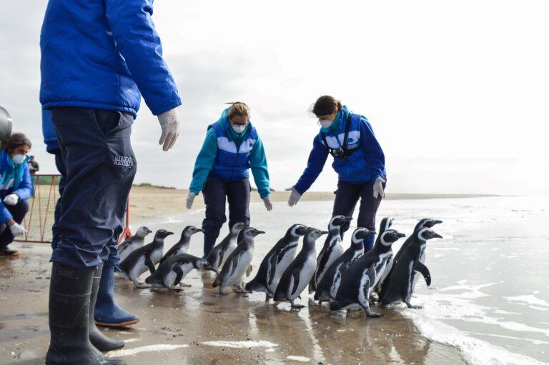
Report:
M 14 246 L 19 259 L 0 259 L 0 364 L 43 364 L 49 246 Z M 463 364 L 457 349 L 424 339 L 395 311 L 380 309 L 384 318 L 367 319 L 362 311 L 333 313 L 312 302 L 292 311 L 265 303 L 263 294 L 222 297 L 198 271 L 184 283 L 192 286 L 169 293 L 117 279 L 119 304 L 141 321 L 106 330 L 127 341 L 110 356 L 128 364 Z

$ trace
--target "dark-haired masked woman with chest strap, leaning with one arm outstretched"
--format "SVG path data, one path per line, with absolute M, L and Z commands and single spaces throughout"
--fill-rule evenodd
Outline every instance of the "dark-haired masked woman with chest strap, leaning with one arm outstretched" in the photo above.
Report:
M 375 230 L 375 214 L 385 197 L 385 155 L 365 116 L 353 114 L 332 96 L 321 96 L 312 107 L 320 123 L 320 132 L 312 143 L 307 168 L 292 191 L 288 205 L 294 206 L 317 179 L 331 154 L 337 172 L 332 216 L 352 216 L 360 199 L 357 226 Z M 342 234 L 349 229 L 347 223 Z M 365 251 L 372 249 L 374 236 L 364 241 Z

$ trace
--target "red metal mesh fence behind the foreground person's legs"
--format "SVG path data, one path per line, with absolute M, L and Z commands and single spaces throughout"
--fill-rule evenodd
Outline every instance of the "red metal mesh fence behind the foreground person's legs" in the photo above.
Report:
M 23 237 L 17 237 L 20 242 L 51 242 L 51 225 L 54 224 L 55 204 L 59 198 L 60 175 L 34 175 L 31 176 L 34 186 L 34 194 L 29 199 L 29 213 L 26 214 L 22 226 L 27 233 Z M 129 199 L 124 217 L 124 232 L 119 241 L 131 236 L 129 231 Z

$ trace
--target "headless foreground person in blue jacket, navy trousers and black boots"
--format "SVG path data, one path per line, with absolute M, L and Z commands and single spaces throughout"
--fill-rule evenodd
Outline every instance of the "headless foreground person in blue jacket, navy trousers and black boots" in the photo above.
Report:
M 179 136 L 181 99 L 152 13 L 152 0 L 49 0 L 46 7 L 40 102 L 51 110 L 64 179 L 46 364 L 123 364 L 90 344 L 88 310 L 103 263 L 109 278 L 118 264 L 115 242 L 137 167 L 130 135 L 142 97 L 158 117 L 162 149 Z

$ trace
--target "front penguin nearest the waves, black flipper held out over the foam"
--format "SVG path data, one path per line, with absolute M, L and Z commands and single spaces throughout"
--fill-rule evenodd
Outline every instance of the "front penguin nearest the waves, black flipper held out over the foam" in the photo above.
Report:
M 419 309 L 421 306 L 412 306 L 410 299 L 414 294 L 413 281 L 415 271 L 419 271 L 427 282 L 431 284 L 431 274 L 427 266 L 420 260 L 429 239 L 442 239 L 440 234 L 430 228 L 423 228 L 414 232 L 414 237 L 407 245 L 400 257 L 395 260 L 392 273 L 387 278 L 387 286 L 381 293 L 381 304 L 387 305 L 397 301 L 403 301 L 408 308 Z

